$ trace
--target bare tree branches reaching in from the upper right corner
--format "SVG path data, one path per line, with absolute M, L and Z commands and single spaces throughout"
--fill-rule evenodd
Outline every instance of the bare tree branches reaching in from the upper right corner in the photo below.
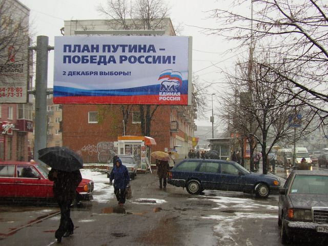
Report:
M 250 12 L 241 10 L 242 6 L 250 7 L 250 4 L 254 7 L 253 18 Z M 320 115 L 326 124 L 327 10 L 325 1 L 321 0 L 252 0 L 251 3 L 239 0 L 234 1 L 229 10 L 210 11 L 218 28 L 203 30 L 237 40 L 240 46 L 251 44 L 251 49 L 256 47 L 255 53 L 264 50 L 271 57 L 280 57 L 274 59 L 274 63 L 262 60 L 259 64 L 293 85 L 278 87 L 278 92 L 289 94 L 301 104 L 310 106 L 311 113 Z

